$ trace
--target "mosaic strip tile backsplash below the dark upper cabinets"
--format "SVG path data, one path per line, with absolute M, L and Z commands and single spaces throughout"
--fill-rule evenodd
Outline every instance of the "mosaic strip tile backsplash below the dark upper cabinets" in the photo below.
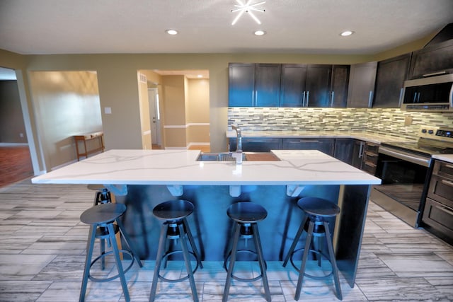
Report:
M 453 127 L 453 112 L 398 108 L 228 108 L 228 127 L 244 131 L 366 131 L 417 139 L 421 125 Z M 407 125 L 406 125 L 407 124 Z

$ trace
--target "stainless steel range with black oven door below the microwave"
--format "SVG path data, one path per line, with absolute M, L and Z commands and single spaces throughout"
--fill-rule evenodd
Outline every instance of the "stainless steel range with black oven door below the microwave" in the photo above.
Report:
M 418 141 L 379 146 L 376 176 L 382 185 L 370 198 L 413 227 L 418 227 L 425 207 L 432 155 L 453 153 L 453 128 L 420 127 Z

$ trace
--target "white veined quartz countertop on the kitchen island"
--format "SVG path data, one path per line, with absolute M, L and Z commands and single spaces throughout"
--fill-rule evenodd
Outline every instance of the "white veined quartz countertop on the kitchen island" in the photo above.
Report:
M 200 151 L 110 150 L 32 179 L 92 185 L 377 185 L 368 173 L 315 150 L 275 150 L 280 161 L 196 161 Z

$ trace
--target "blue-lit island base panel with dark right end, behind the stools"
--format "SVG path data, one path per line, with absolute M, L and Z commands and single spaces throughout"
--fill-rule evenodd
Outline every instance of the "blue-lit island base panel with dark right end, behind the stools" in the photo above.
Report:
M 226 215 L 226 209 L 234 202 L 250 201 L 265 207 L 268 217 L 258 223 L 263 254 L 265 260 L 281 261 L 303 219 L 297 200 L 308 196 L 324 198 L 335 204 L 340 200 L 340 221 L 329 221 L 330 231 L 339 232 L 336 234 L 338 268 L 352 287 L 365 226 L 368 188 L 369 185 L 306 185 L 299 196 L 289 197 L 284 185 L 243 185 L 241 194 L 231 197 L 226 185 L 185 185 L 183 195 L 174 197 L 165 185 L 128 185 L 127 195 L 116 199 L 127 205 L 122 221 L 142 260 L 156 259 L 161 221 L 152 215 L 152 209 L 173 199 L 193 202 L 195 211 L 188 221 L 204 261 L 224 260 L 232 235 L 232 221 Z M 335 227 L 338 230 L 334 230 Z M 304 238 L 300 241 L 297 248 L 304 245 Z

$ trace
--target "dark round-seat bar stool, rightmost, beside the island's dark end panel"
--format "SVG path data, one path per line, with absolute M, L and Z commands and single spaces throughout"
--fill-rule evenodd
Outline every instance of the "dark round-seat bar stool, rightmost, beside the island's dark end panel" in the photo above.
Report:
M 304 211 L 305 216 L 302 220 L 301 225 L 299 226 L 299 230 L 297 231 L 296 236 L 294 237 L 291 248 L 289 248 L 287 256 L 285 257 L 285 261 L 283 262 L 283 267 L 285 267 L 288 260 L 291 260 L 293 267 L 299 272 L 299 279 L 297 280 L 296 294 L 294 296 L 294 299 L 299 300 L 300 298 L 304 275 L 315 279 L 321 279 L 330 277 L 331 274 L 333 274 L 333 279 L 335 281 L 336 287 L 336 296 L 338 299 L 342 300 L 343 296 L 341 294 L 340 279 L 338 278 L 338 267 L 335 254 L 333 252 L 331 231 L 329 230 L 329 223 L 327 221 L 328 218 L 337 216 L 338 213 L 340 213 L 340 208 L 332 202 L 328 202 L 325 199 L 316 197 L 301 198 L 297 202 L 297 206 L 302 209 L 302 211 Z M 297 242 L 299 241 L 303 231 L 306 231 L 305 247 L 299 250 L 304 250 L 304 255 L 302 256 L 302 265 L 300 269 L 297 269 L 292 260 L 292 256 L 294 255 L 294 252 L 297 251 L 294 249 L 296 248 Z M 319 238 L 318 247 L 314 246 L 314 238 Z M 324 255 L 322 252 L 323 238 L 325 238 L 327 242 L 328 256 Z M 313 247 L 313 249 L 311 249 L 311 247 Z M 315 277 L 306 274 L 305 268 L 309 252 L 313 252 L 316 255 L 316 257 L 318 258 L 319 267 L 321 267 L 322 257 L 326 257 L 327 260 L 331 262 L 332 272 L 322 277 Z

